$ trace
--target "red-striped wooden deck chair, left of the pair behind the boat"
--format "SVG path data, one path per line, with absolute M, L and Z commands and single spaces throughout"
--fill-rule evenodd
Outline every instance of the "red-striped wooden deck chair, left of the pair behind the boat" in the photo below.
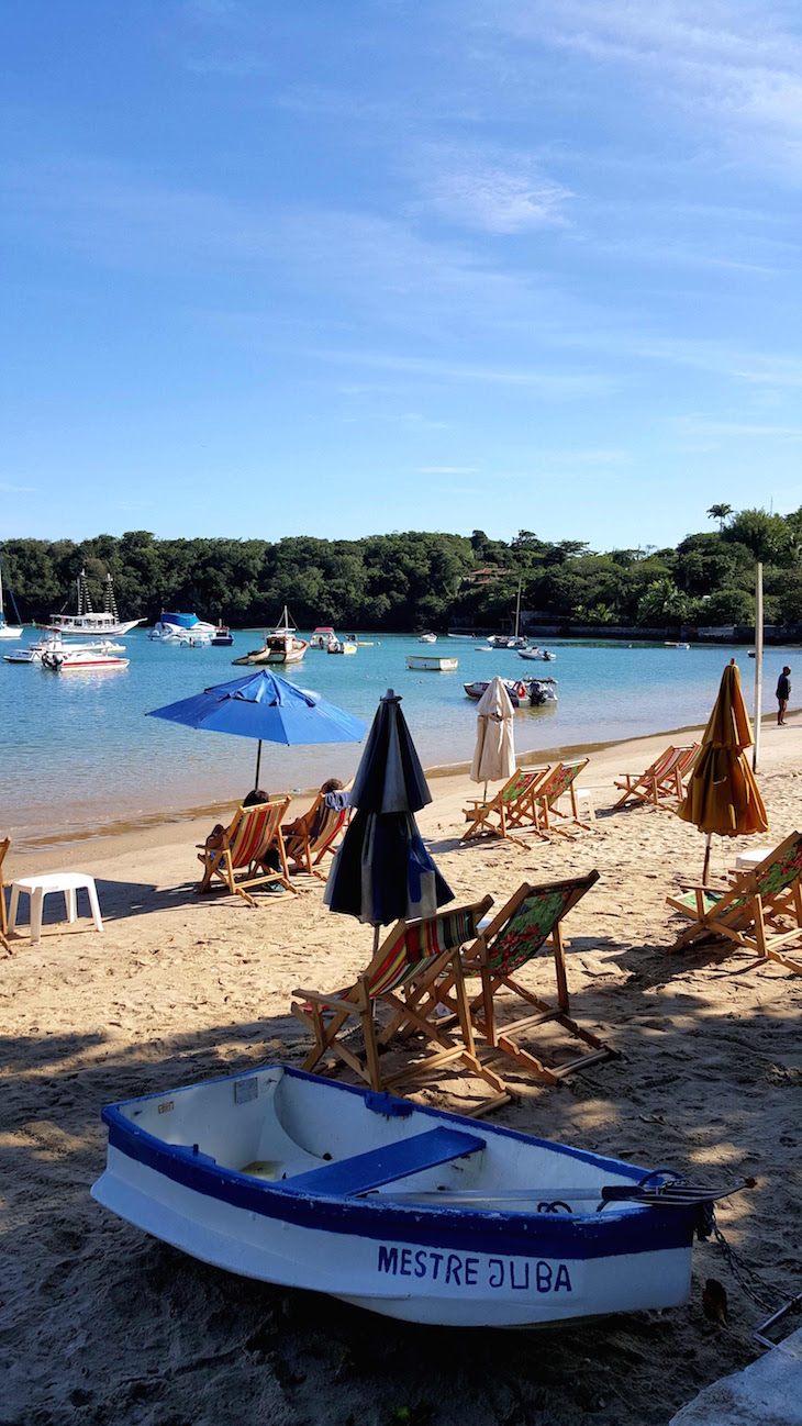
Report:
M 485 897 L 474 906 L 457 907 L 451 911 L 440 911 L 425 921 L 398 921 L 382 944 L 378 947 L 368 968 L 358 977 L 348 990 L 324 995 L 317 990 L 295 990 L 297 997 L 291 1012 L 314 1035 L 314 1047 L 304 1060 L 304 1070 L 317 1070 L 321 1060 L 342 1060 L 361 1079 L 370 1084 L 371 1089 L 385 1089 L 401 1079 L 417 1078 L 428 1074 L 444 1064 L 462 1062 L 471 1074 L 484 1079 L 495 1091 L 495 1098 L 488 1105 L 482 1104 L 482 1111 L 495 1104 L 507 1102 L 509 1098 L 502 1081 L 492 1071 L 479 1064 L 474 1047 L 471 1018 L 465 1001 L 462 977 L 460 970 L 460 947 L 475 937 L 479 920 L 492 906 L 492 897 Z M 454 987 L 452 1004 L 460 1027 L 460 1038 L 450 1030 L 441 1028 L 437 1022 L 430 1022 L 420 1017 L 410 1005 L 408 995 L 414 991 L 417 980 L 430 975 L 437 980 L 448 971 Z M 377 1007 L 384 1005 L 392 1011 L 390 1027 L 380 1028 L 377 1022 Z M 385 1048 L 394 1037 L 394 1027 L 398 1018 L 410 1020 L 431 1045 L 432 1052 L 415 1060 L 414 1064 L 397 1074 L 382 1074 L 380 1050 Z M 362 1050 L 361 1052 L 351 1044 L 344 1044 L 342 1035 L 354 1028 L 354 1021 L 361 1024 Z

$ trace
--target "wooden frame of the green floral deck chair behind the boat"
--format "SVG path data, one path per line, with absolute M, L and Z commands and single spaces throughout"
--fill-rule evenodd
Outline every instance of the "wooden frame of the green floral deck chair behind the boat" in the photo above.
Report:
M 542 1079 L 547 1084 L 558 1084 L 567 1075 L 577 1070 L 584 1070 L 598 1060 L 608 1060 L 616 1055 L 604 1040 L 598 1035 L 591 1034 L 579 1025 L 571 1015 L 571 998 L 568 994 L 568 977 L 565 971 L 565 947 L 562 940 L 562 921 L 568 915 L 572 907 L 585 896 L 587 891 L 598 881 L 598 871 L 591 871 L 585 877 L 572 877 L 569 880 L 545 883 L 541 886 L 529 886 L 524 883 L 505 906 L 497 913 L 489 925 L 477 937 L 472 945 L 467 945 L 461 957 L 461 971 L 462 980 L 468 983 L 474 977 L 481 978 L 481 991 L 477 995 L 468 997 L 468 1010 L 471 1014 L 471 1021 L 474 1030 L 481 1035 L 487 1051 L 484 1047 L 478 1047 L 479 1058 L 487 1067 L 485 1054 L 489 1055 L 492 1062 L 497 1062 L 499 1057 L 507 1057 L 515 1061 L 522 1070 L 534 1074 L 537 1079 Z M 514 921 L 518 910 L 531 897 L 538 897 L 547 903 L 547 898 L 558 897 L 558 914 L 549 924 L 549 930 L 545 935 L 535 940 L 532 950 L 521 961 L 525 965 L 532 960 L 544 947 L 551 947 L 554 954 L 554 970 L 557 978 L 557 1004 L 549 1004 L 534 995 L 525 985 L 521 985 L 512 974 L 499 970 L 494 965 L 494 951 L 502 943 L 504 934 L 509 924 Z M 518 970 L 519 965 L 515 965 Z M 515 995 L 518 1001 L 525 1005 L 531 1005 L 535 1014 L 527 1014 L 524 1017 L 517 1017 L 515 1020 L 505 1022 L 501 1028 L 497 1020 L 495 1011 L 495 997 L 501 991 L 508 990 Z M 454 980 L 447 974 L 440 978 L 430 977 L 425 985 L 418 987 L 417 1001 L 414 1008 L 418 1017 L 445 1017 L 440 1018 L 438 1024 L 448 1027 L 455 1014 L 454 1001 Z M 537 1030 L 539 1025 L 555 1022 L 568 1032 L 572 1040 L 581 1041 L 588 1047 L 588 1051 L 577 1055 L 574 1060 L 567 1061 L 561 1065 L 549 1065 L 535 1054 L 532 1050 L 527 1050 L 518 1044 L 518 1040 L 524 1035 L 529 1035 L 531 1031 Z M 397 1027 L 400 1032 L 407 1035 L 412 1034 L 414 1028 L 408 1024 Z

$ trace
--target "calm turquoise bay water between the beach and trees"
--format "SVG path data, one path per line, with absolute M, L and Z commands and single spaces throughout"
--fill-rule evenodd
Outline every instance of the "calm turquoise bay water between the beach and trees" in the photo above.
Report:
M 351 657 L 308 650 L 288 676 L 350 713 L 372 719 L 387 687 L 404 697 L 404 713 L 425 767 L 471 757 L 477 712 L 462 683 L 549 674 L 559 702 L 521 709 L 515 746 L 531 752 L 557 746 L 638 737 L 706 720 L 725 663 L 741 666 L 746 703 L 753 704 L 753 660 L 725 647 L 665 649 L 655 645 L 549 642 L 555 663 L 524 663 L 514 652 L 479 653 L 472 643 L 441 637 L 427 649 L 412 635 L 360 635 L 374 639 Z M 233 801 L 253 786 L 255 743 L 146 719 L 148 709 L 224 683 L 245 669 L 231 659 L 257 647 L 258 635 L 237 633 L 233 649 L 181 649 L 150 642 L 137 629 L 126 639 L 124 672 L 49 673 L 39 665 L 0 662 L 0 830 L 17 846 L 56 829 L 81 834 L 158 813 L 181 813 Z M 23 640 L 27 642 L 27 640 Z M 19 643 L 11 645 L 19 647 Z M 7 652 L 9 645 L 1 652 Z M 414 673 L 407 653 L 457 657 L 457 673 Z M 799 650 L 771 649 L 765 659 L 763 712 L 785 662 Z M 802 674 L 801 674 L 802 677 Z M 265 744 L 260 783 L 268 791 L 318 786 L 348 777 L 360 747 L 278 747 Z

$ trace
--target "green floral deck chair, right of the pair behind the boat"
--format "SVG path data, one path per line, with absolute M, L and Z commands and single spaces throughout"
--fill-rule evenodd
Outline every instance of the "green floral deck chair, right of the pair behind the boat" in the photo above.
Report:
M 562 921 L 598 878 L 598 871 L 591 871 L 587 877 L 572 877 L 569 881 L 552 881 L 545 886 L 524 883 L 474 944 L 464 948 L 461 971 L 474 1030 L 487 1045 L 487 1051 L 479 1047 L 485 1068 L 487 1055 L 491 1061 L 507 1055 L 538 1079 L 558 1084 L 574 1070 L 584 1070 L 597 1060 L 616 1054 L 572 1020 L 565 974 Z M 541 1000 L 514 980 L 514 975 L 547 945 L 554 954 L 557 1004 Z M 469 995 L 469 983 L 477 977 L 481 980 L 481 991 Z M 435 1018 L 442 1027 L 451 1025 L 457 1008 L 452 991 L 454 980 L 450 974 L 438 980 L 430 978 L 425 987 L 420 987 L 412 1007 L 418 1018 Z M 504 991 L 509 991 L 511 995 L 502 994 Z M 507 1014 L 509 1008 L 515 1012 L 521 1002 L 524 1015 Z M 527 1007 L 532 1007 L 535 1014 L 528 1012 Z M 535 1052 L 534 1048 L 518 1044 L 522 1037 L 531 1038 L 532 1031 L 549 1022 L 559 1025 L 571 1040 L 579 1041 L 588 1050 L 559 1064 L 548 1064 L 545 1048 Z M 408 1025 L 397 1028 L 404 1035 L 414 1032 Z M 559 1042 L 549 1045 L 549 1050 L 554 1054 L 554 1050 L 559 1050 Z

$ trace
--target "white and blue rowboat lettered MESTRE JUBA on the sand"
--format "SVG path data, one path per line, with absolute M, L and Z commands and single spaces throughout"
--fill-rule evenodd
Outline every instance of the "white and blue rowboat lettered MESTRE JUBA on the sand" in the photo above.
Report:
M 722 1196 L 283 1065 L 103 1118 L 91 1194 L 120 1218 L 201 1262 L 410 1322 L 678 1306 L 699 1215 Z

